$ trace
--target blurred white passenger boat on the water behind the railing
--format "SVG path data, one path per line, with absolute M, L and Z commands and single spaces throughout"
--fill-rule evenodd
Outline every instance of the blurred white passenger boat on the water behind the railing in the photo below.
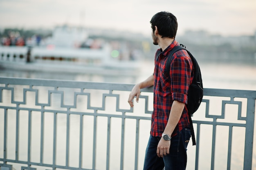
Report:
M 44 40 L 40 46 L 0 46 L 0 67 L 94 74 L 132 74 L 139 69 L 136 60 L 113 58 L 108 43 L 79 48 L 85 40 L 88 35 L 84 29 L 57 27 L 52 38 Z

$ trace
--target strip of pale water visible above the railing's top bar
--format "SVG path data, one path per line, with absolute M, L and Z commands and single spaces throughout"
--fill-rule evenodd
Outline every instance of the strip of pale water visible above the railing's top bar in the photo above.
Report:
M 104 83 L 128 83 L 135 84 L 143 81 L 145 78 L 153 74 L 154 62 L 152 60 L 140 60 L 140 70 L 137 74 L 119 74 L 118 69 L 113 75 L 90 73 L 74 73 L 74 72 L 39 72 L 22 71 L 15 69 L 0 69 L 0 76 L 20 77 L 20 78 L 43 78 L 73 81 L 90 81 Z M 250 63 L 207 63 L 199 62 L 203 85 L 205 88 L 216 89 L 243 89 L 256 90 L 256 64 Z M 14 63 L 15 65 L 15 63 Z M 13 66 L 15 68 L 15 66 Z

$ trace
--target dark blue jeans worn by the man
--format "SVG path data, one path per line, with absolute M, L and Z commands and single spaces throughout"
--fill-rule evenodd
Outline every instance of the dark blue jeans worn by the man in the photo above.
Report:
M 185 170 L 186 169 L 186 148 L 189 143 L 191 133 L 190 128 L 182 129 L 171 139 L 170 154 L 157 156 L 157 145 L 160 137 L 149 137 L 148 146 L 144 161 L 144 170 Z

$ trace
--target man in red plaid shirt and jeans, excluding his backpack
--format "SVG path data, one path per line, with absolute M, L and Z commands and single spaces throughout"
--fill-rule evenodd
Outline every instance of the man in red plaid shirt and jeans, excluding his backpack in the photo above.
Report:
M 154 74 L 133 87 L 128 103 L 133 107 L 132 100 L 136 96 L 138 102 L 140 89 L 154 85 L 154 110 L 144 170 L 162 170 L 164 167 L 165 170 L 184 170 L 186 147 L 191 136 L 185 104 L 193 80 L 193 63 L 182 49 L 173 54 L 170 70 L 165 70 L 168 54 L 179 45 L 175 40 L 177 19 L 172 13 L 159 12 L 150 23 L 153 44 L 160 47 L 155 54 Z

